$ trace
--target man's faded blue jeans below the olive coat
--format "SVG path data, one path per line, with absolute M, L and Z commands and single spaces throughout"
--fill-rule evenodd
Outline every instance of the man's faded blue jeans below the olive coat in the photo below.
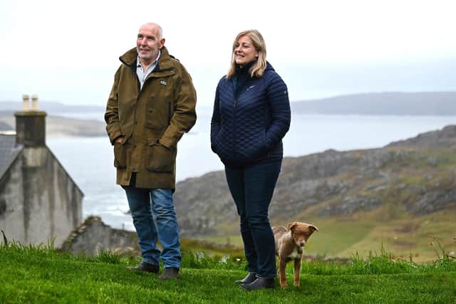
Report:
M 161 258 L 164 268 L 180 268 L 179 227 L 172 203 L 172 189 L 141 189 L 131 185 L 123 188 L 138 234 L 142 261 L 159 265 Z M 161 253 L 157 237 L 162 244 Z

